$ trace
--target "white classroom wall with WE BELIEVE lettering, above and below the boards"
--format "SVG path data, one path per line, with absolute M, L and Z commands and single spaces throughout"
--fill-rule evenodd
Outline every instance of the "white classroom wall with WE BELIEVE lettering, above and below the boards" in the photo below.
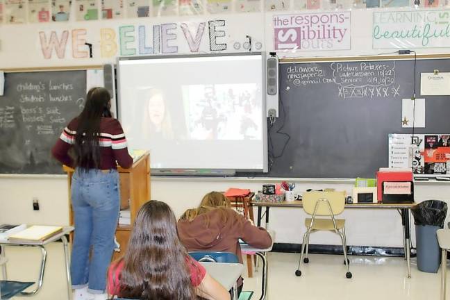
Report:
M 392 52 L 395 49 L 372 49 L 373 12 L 414 11 L 411 8 L 383 10 L 350 10 L 351 49 L 340 51 L 278 51 L 278 56 L 357 56 Z M 303 13 L 304 11 L 302 11 Z M 260 12 L 249 14 L 201 15 L 195 17 L 158 17 L 92 22 L 23 24 L 0 26 L 0 69 L 30 67 L 65 67 L 113 63 L 118 55 L 151 53 L 158 49 L 172 53 L 203 53 L 248 51 L 246 35 L 252 37 L 253 50 L 272 51 L 274 47 L 274 15 L 293 12 Z M 167 25 L 169 24 L 169 25 Z M 154 39 L 153 30 L 165 38 Z M 184 29 L 183 29 L 184 28 Z M 141 35 L 140 35 L 141 32 Z M 213 32 L 213 38 L 210 33 Z M 223 35 L 223 36 L 222 36 Z M 124 42 L 125 41 L 125 42 Z M 156 42 L 155 42 L 156 41 Z M 84 42 L 93 44 L 94 58 L 88 58 Z M 53 43 L 53 44 L 52 44 Z M 165 46 L 161 43 L 165 43 Z M 222 46 L 221 46 L 222 45 Z M 153 48 L 152 48 L 153 47 Z M 256 49 L 260 47 L 260 49 Z M 174 50 L 176 49 L 176 50 Z M 417 53 L 445 53 L 449 48 L 423 48 Z M 160 52 L 161 52 L 160 51 Z M 168 52 L 168 53 L 169 53 Z M 387 151 L 387 150 L 386 150 Z M 383 166 L 381 166 L 383 167 Z M 201 197 L 211 190 L 229 187 L 260 190 L 269 178 L 152 178 L 152 199 L 166 201 L 177 216 L 186 208 L 197 206 Z M 301 181 L 299 191 L 308 188 L 336 188 L 351 192 L 349 181 Z M 68 224 L 67 181 L 65 176 L 0 176 L 0 223 Z M 419 183 L 417 201 L 445 199 L 450 188 L 442 183 Z M 32 210 L 33 197 L 40 210 Z M 276 231 L 276 242 L 299 243 L 303 233 L 303 211 L 271 210 L 269 227 Z M 349 244 L 401 247 L 401 220 L 396 211 L 348 210 L 347 238 Z M 338 244 L 328 233 L 312 238 L 317 244 Z

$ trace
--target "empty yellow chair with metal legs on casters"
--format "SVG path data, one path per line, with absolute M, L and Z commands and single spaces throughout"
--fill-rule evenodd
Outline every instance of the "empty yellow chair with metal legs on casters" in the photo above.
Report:
M 349 269 L 349 259 L 347 258 L 347 240 L 345 237 L 345 220 L 335 219 L 335 215 L 339 215 L 344 211 L 345 192 L 304 192 L 302 197 L 303 210 L 312 218 L 305 219 L 306 233 L 303 235 L 301 243 L 301 256 L 299 267 L 295 271 L 295 275 L 301 276 L 300 265 L 303 260 L 303 253 L 306 253 L 303 263 L 309 263 L 308 246 L 310 234 L 315 231 L 334 231 L 342 240 L 342 250 L 344 251 L 344 263 L 347 266 L 347 278 L 351 278 Z M 318 216 L 326 216 L 319 218 Z M 306 250 L 306 251 L 305 251 Z

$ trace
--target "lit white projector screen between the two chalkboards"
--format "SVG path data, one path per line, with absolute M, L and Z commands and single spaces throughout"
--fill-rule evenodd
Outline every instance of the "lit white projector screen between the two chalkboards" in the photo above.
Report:
M 119 58 L 119 120 L 152 169 L 267 172 L 265 56 Z

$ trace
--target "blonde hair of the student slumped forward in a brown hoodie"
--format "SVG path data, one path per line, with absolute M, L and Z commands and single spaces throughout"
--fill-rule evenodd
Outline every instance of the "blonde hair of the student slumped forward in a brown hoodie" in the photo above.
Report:
M 230 200 L 221 192 L 209 192 L 203 199 L 201 199 L 198 208 L 190 208 L 181 215 L 180 220 L 185 220 L 188 222 L 194 221 L 194 219 L 213 210 L 220 210 L 222 221 L 226 223 L 228 221 L 228 215 L 226 211 L 231 208 Z M 205 216 L 205 226 L 208 227 L 210 224 L 210 219 Z

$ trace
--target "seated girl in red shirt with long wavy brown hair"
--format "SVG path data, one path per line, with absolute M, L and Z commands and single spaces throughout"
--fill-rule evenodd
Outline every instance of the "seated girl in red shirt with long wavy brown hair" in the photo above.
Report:
M 190 258 L 166 203 L 140 208 L 124 258 L 108 270 L 108 293 L 142 300 L 229 300 L 230 294 Z

